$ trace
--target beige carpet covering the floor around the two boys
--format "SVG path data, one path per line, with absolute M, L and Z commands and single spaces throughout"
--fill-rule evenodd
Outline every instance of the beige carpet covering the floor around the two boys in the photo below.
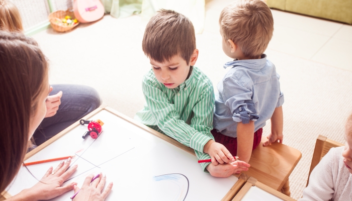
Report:
M 85 84 L 95 87 L 104 104 L 129 117 L 143 107 L 141 80 L 149 60 L 141 48 L 140 17 L 103 20 L 80 25 L 66 34 L 52 29 L 33 37 L 51 64 L 50 83 Z M 196 66 L 216 84 L 230 59 L 221 49 L 216 32 L 197 35 L 200 51 Z M 302 159 L 290 176 L 292 197 L 298 199 L 305 187 L 315 139 L 324 135 L 344 143 L 343 124 L 352 112 L 352 72 L 267 50 L 281 75 L 285 94 L 284 144 L 302 152 Z M 64 94 L 63 94 L 64 95 Z M 270 125 L 264 128 L 270 132 Z

